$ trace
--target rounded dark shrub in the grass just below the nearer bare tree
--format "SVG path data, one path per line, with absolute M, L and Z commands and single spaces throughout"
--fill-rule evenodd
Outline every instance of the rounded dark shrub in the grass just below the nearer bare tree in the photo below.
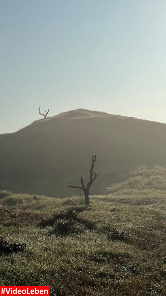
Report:
M 83 233 L 86 227 L 81 223 L 75 222 L 73 219 L 59 219 L 55 223 L 54 230 L 52 233 L 59 235 Z

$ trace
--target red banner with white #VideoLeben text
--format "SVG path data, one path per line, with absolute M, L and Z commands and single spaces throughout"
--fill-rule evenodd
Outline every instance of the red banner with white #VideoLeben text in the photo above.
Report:
M 16 296 L 16 295 L 27 295 L 27 296 L 50 296 L 49 286 L 0 286 L 0 296 Z

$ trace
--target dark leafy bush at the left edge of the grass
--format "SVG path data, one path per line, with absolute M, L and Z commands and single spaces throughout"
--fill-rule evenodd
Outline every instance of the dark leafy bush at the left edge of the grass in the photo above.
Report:
M 9 255 L 11 253 L 21 253 L 25 251 L 26 243 L 10 243 L 7 242 L 4 237 L 0 237 L 0 254 Z

